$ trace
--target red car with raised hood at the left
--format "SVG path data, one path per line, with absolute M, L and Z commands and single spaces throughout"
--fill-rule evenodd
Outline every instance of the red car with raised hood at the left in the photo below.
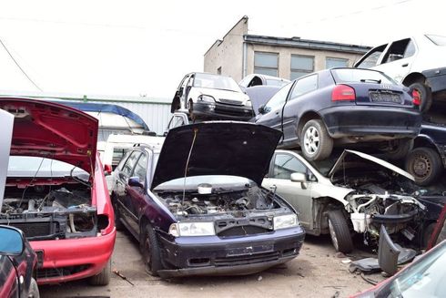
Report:
M 0 98 L 0 108 L 15 116 L 0 224 L 30 241 L 37 283 L 108 283 L 116 229 L 96 118 L 30 98 Z

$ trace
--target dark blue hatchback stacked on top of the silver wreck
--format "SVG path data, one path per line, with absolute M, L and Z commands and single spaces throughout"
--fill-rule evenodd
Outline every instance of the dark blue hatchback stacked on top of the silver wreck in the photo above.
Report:
M 259 108 L 255 122 L 283 132 L 280 148 L 299 146 L 306 159 L 333 146 L 376 142 L 404 157 L 420 132 L 419 94 L 370 69 L 331 68 L 299 77 Z

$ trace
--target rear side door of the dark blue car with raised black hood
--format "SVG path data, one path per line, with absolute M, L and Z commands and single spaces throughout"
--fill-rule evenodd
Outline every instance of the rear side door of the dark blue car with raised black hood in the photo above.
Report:
M 117 210 L 119 212 L 119 217 L 121 220 L 125 221 L 127 228 L 132 227 L 132 205 L 129 200 L 127 181 L 131 177 L 135 165 L 137 164 L 137 159 L 141 155 L 140 151 L 134 150 L 128 156 L 122 170 L 118 172 L 117 175 L 117 186 L 116 186 L 116 196 L 117 196 Z M 133 230 L 133 229 L 132 229 Z M 135 231 L 132 231 L 135 232 Z

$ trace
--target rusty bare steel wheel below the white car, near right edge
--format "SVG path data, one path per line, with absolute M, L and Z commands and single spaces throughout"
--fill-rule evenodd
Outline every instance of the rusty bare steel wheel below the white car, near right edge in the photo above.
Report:
M 430 185 L 441 175 L 441 158 L 431 148 L 413 149 L 406 159 L 406 170 L 413 175 L 417 184 Z

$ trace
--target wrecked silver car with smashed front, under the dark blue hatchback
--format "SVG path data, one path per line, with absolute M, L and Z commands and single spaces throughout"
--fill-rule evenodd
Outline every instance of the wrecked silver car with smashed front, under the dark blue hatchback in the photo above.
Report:
M 409 173 L 354 150 L 344 150 L 331 170 L 324 172 L 297 151 L 277 150 L 262 186 L 277 188 L 277 193 L 299 211 L 305 231 L 329 233 L 340 252 L 353 249 L 350 231 L 363 233 L 370 243 L 376 243 L 381 224 L 390 234 L 400 233 L 409 241 L 418 236 L 417 231 L 422 232 L 427 209 L 412 194 L 413 177 Z M 426 202 L 434 222 L 442 205 Z

